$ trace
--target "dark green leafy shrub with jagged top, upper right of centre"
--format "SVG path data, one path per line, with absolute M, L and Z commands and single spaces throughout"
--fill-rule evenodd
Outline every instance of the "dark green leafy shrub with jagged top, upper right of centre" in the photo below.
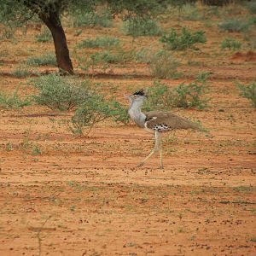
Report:
M 160 38 L 160 42 L 166 45 L 167 49 L 171 50 L 183 50 L 188 48 L 194 48 L 194 44 L 206 44 L 207 37 L 204 31 L 189 32 L 186 27 L 183 27 L 180 34 L 172 28 L 171 32 L 164 34 Z

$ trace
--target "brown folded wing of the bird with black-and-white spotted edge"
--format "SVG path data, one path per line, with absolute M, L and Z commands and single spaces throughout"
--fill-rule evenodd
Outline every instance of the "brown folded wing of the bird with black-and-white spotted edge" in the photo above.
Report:
M 198 125 L 175 113 L 151 111 L 145 113 L 145 115 L 145 127 L 152 130 L 169 131 L 176 129 L 199 129 Z

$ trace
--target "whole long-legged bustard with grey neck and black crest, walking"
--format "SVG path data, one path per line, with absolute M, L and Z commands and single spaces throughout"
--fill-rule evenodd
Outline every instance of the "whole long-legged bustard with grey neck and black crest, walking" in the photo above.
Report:
M 181 116 L 178 116 L 175 113 L 167 113 L 160 111 L 150 111 L 143 113 L 143 101 L 146 99 L 146 96 L 143 90 L 140 90 L 133 95 L 129 96 L 131 100 L 131 106 L 129 108 L 129 115 L 131 119 L 141 128 L 144 128 L 146 131 L 154 133 L 155 136 L 155 146 L 154 149 L 148 154 L 148 156 L 143 160 L 139 166 L 143 166 L 148 158 L 160 151 L 160 167 L 163 168 L 162 161 L 162 151 L 161 151 L 161 140 L 160 135 L 165 131 L 181 130 L 181 129 L 199 129 L 198 125 L 191 122 L 189 119 L 185 119 Z

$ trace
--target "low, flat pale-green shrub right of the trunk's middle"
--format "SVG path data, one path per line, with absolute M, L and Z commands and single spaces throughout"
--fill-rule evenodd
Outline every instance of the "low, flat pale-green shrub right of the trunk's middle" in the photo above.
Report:
M 118 46 L 119 38 L 113 37 L 97 37 L 95 39 L 86 39 L 79 44 L 79 48 L 99 48 Z

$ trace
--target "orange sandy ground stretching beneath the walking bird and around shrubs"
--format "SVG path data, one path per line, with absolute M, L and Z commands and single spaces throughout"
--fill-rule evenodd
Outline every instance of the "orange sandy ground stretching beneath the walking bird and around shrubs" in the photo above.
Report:
M 95 32 L 108 30 L 84 29 L 81 38 Z M 223 55 L 216 48 L 215 54 L 217 36 L 208 32 L 202 52 L 188 53 L 201 65 L 185 62 L 180 70 L 187 79 L 212 73 L 210 107 L 173 111 L 200 119 L 210 135 L 166 135 L 164 170 L 159 155 L 136 168 L 154 141 L 133 124 L 107 121 L 90 137 L 74 137 L 62 122 L 72 113 L 37 105 L 0 109 L 0 255 L 256 255 L 255 110 L 234 84 L 255 78 L 256 62 L 247 50 Z M 1 90 L 20 86 L 23 96 L 36 92 L 29 78 L 11 73 L 35 51 L 53 50 L 51 42 L 35 42 L 35 33 L 29 30 L 18 44 L 1 42 L 9 53 L 0 66 Z M 129 44 L 131 38 L 122 37 Z M 67 29 L 71 49 L 81 38 Z M 125 102 L 124 93 L 154 81 L 145 65 L 134 71 L 131 65 L 113 67 L 91 79 L 115 84 Z M 183 80 L 163 82 L 174 86 Z

